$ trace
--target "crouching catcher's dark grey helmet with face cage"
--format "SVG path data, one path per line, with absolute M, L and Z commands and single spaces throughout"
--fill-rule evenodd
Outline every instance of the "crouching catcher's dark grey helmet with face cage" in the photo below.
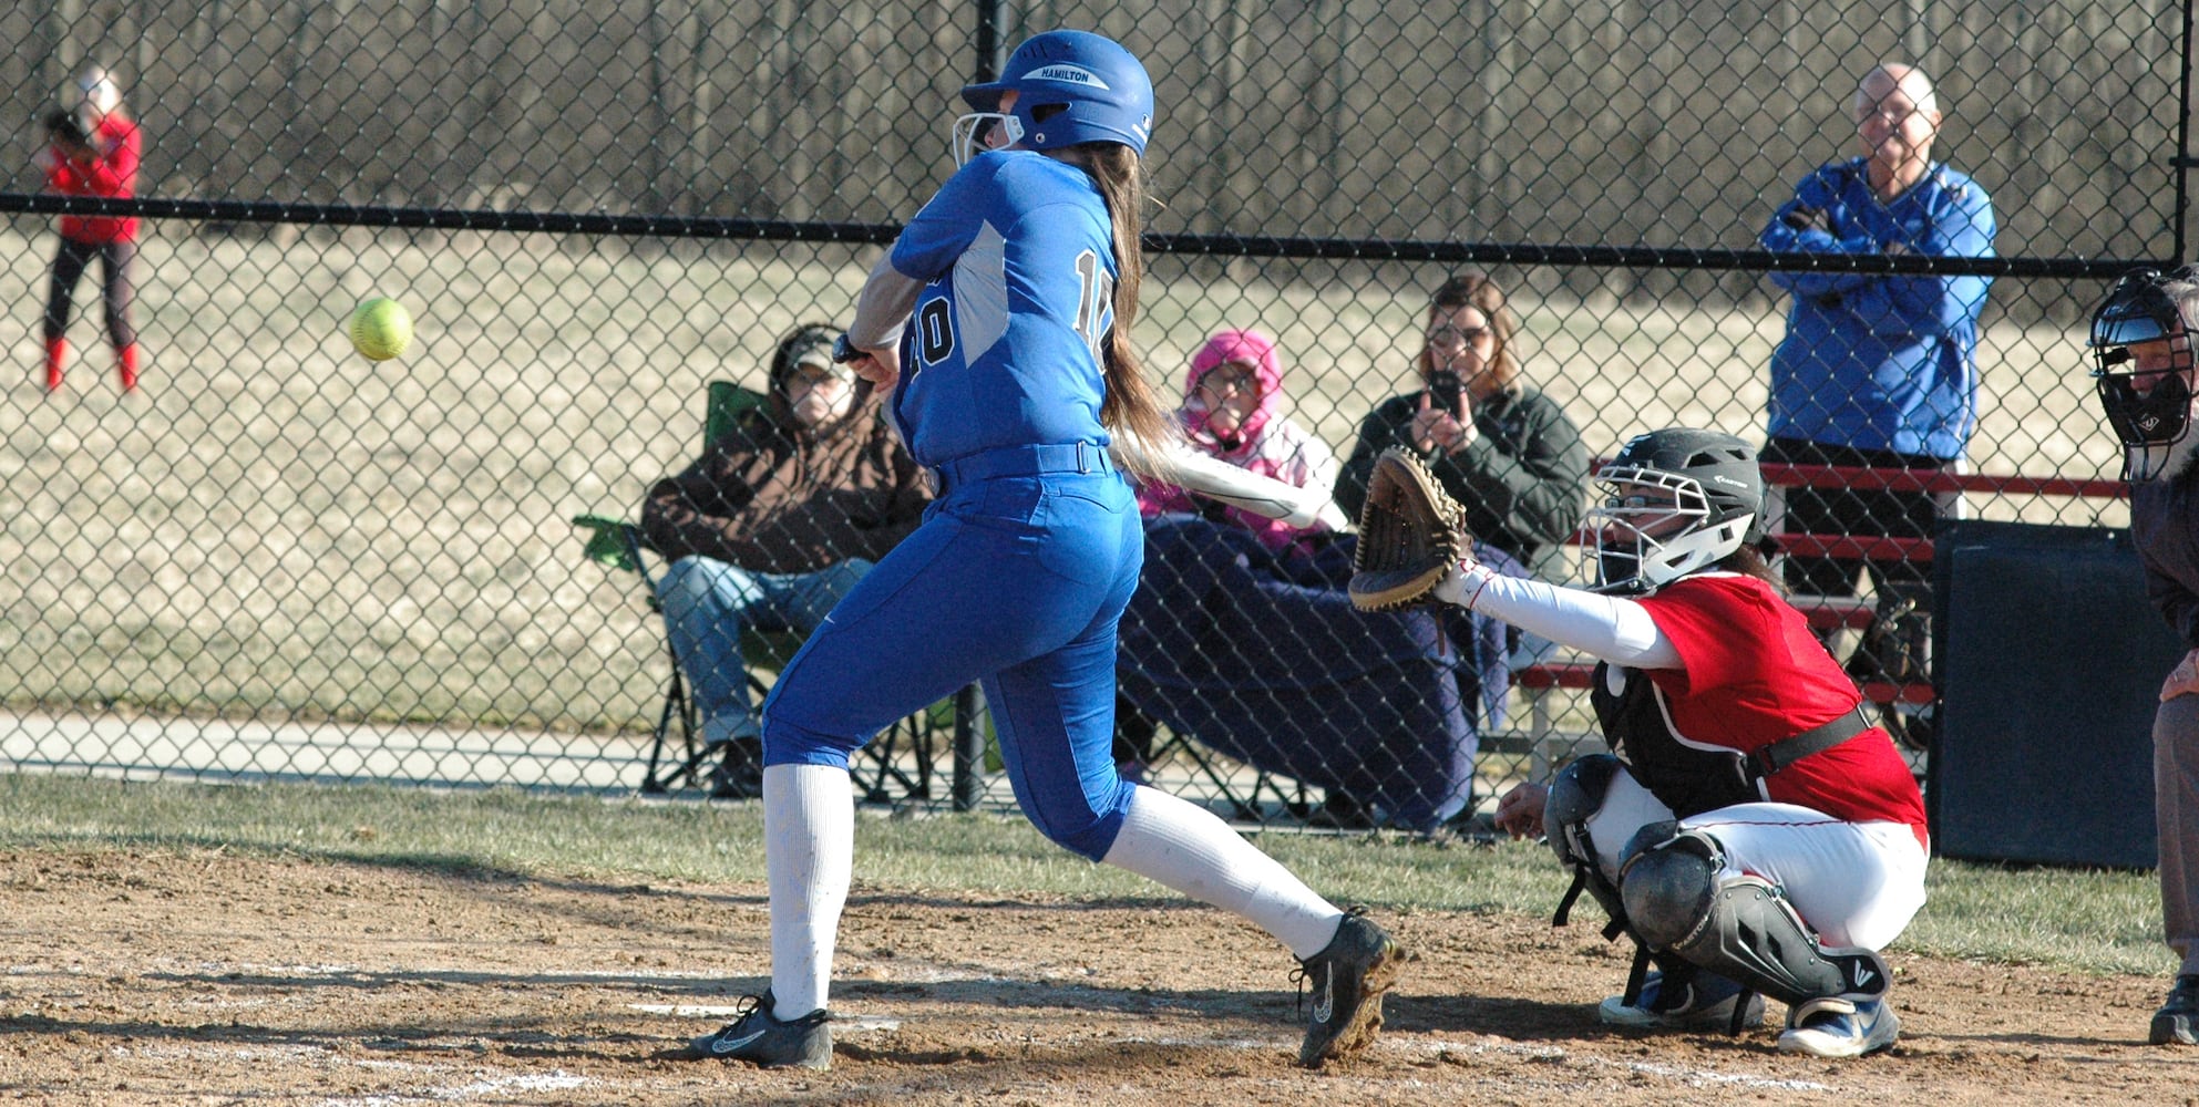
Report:
M 1742 439 L 1673 426 L 1636 435 L 1596 474 L 1583 527 L 1596 591 L 1647 593 L 1764 536 L 1764 470 Z

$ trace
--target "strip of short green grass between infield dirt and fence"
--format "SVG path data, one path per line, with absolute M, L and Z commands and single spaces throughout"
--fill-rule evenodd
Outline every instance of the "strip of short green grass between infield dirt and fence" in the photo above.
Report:
M 611 881 L 763 881 L 756 804 L 644 804 L 519 791 L 119 784 L 0 778 L 0 850 L 226 850 L 453 872 Z M 1023 819 L 941 815 L 858 821 L 855 881 L 869 890 L 957 890 L 1073 898 L 1168 898 L 1139 876 L 1086 863 Z M 1535 843 L 1436 846 L 1385 837 L 1269 832 L 1262 850 L 1337 901 L 1385 912 L 1546 918 L 1563 881 Z M 1592 936 L 1594 905 L 1574 927 Z M 2089 973 L 2164 973 L 2153 874 L 1935 861 L 1931 903 L 1896 949 Z

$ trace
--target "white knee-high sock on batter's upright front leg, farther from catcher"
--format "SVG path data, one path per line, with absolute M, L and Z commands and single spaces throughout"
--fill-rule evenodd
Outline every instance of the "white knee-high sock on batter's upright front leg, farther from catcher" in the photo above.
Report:
M 763 771 L 763 870 L 772 881 L 772 1017 L 825 1006 L 840 907 L 855 868 L 855 793 L 847 769 Z

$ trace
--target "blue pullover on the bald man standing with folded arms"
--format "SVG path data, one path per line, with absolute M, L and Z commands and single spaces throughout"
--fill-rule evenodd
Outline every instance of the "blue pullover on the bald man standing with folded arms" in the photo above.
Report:
M 1992 202 L 1933 165 L 1882 204 L 1865 160 L 1810 174 L 1766 250 L 1992 257 Z M 1898 246 L 1900 250 L 1889 250 Z M 1772 351 L 1770 437 L 1957 459 L 1977 424 L 1977 312 L 1990 277 L 1772 272 L 1794 297 Z

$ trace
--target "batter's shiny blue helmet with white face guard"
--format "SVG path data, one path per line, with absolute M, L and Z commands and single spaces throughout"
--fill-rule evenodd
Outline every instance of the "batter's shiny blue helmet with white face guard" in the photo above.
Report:
M 1001 94 L 1016 105 L 1001 112 Z M 1152 136 L 1152 79 L 1146 66 L 1106 35 L 1047 31 L 1023 40 L 998 81 L 963 86 L 976 108 L 954 121 L 954 160 L 970 152 L 987 123 L 1007 127 L 1009 143 L 1060 149 L 1078 143 L 1121 143 L 1146 154 Z

